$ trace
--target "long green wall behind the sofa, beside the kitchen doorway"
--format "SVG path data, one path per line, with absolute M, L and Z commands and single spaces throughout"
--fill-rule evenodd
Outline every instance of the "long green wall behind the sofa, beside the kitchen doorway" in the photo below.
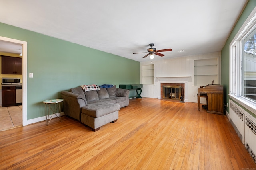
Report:
M 139 84 L 140 63 L 0 23 L 0 36 L 28 42 L 27 119 L 45 115 L 42 101 L 81 84 Z M 29 77 L 29 76 L 28 76 Z M 24 83 L 24 82 L 23 82 Z

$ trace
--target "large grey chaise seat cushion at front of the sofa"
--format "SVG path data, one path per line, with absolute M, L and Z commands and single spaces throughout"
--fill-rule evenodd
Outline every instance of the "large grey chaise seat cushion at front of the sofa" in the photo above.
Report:
M 90 117 L 101 117 L 120 110 L 119 104 L 108 102 L 91 102 L 82 108 L 82 113 Z

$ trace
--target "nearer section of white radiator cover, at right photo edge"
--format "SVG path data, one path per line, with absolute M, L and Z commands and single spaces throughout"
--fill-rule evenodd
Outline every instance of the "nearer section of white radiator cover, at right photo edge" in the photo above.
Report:
M 254 121 L 252 121 L 254 120 Z M 256 120 L 250 115 L 245 117 L 245 147 L 256 163 Z

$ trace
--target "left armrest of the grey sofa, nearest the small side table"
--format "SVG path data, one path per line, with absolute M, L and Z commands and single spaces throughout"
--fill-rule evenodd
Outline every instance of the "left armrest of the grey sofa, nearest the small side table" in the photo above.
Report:
M 60 92 L 64 99 L 64 112 L 65 115 L 73 117 L 74 119 L 81 120 L 82 107 L 86 106 L 87 101 L 83 96 L 74 94 L 68 91 Z

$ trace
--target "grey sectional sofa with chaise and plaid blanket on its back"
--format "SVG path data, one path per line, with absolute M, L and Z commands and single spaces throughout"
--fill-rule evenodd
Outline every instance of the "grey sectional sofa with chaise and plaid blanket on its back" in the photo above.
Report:
M 101 86 L 102 87 L 102 86 Z M 97 85 L 81 85 L 61 92 L 65 115 L 98 131 L 101 126 L 116 122 L 121 107 L 129 105 L 129 90 Z

